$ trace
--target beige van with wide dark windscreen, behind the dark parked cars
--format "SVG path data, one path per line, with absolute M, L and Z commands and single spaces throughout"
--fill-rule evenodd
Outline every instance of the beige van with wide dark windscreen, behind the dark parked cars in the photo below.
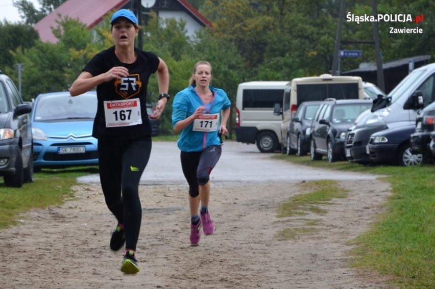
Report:
M 298 77 L 288 82 L 284 95 L 274 106 L 274 115 L 281 116 L 280 145 L 284 152 L 287 147 L 287 130 L 296 110 L 304 101 L 335 99 L 366 99 L 363 80 L 359 76 L 332 76 L 322 74 L 312 77 Z

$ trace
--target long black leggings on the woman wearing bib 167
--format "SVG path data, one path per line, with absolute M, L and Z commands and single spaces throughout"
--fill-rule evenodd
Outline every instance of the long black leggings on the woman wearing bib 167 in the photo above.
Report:
M 139 179 L 151 154 L 151 138 L 99 140 L 100 181 L 106 205 L 124 224 L 126 249 L 136 250 L 142 207 Z

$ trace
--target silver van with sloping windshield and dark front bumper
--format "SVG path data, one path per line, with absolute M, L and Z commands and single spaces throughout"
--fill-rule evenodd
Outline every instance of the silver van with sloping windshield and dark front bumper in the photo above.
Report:
M 345 152 L 351 163 L 369 164 L 367 144 L 380 130 L 414 124 L 419 109 L 435 101 L 435 63 L 409 73 L 387 96 L 373 102 L 371 113 L 364 114 L 349 128 Z

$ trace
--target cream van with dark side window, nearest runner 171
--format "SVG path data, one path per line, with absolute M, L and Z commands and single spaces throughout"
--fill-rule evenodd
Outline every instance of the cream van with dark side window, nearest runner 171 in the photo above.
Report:
M 257 144 L 261 152 L 273 152 L 281 143 L 281 117 L 273 114 L 282 102 L 287 81 L 241 83 L 236 96 L 236 141 Z

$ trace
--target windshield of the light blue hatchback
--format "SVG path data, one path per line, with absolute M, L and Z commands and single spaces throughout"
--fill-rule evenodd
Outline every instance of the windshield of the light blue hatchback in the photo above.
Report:
M 96 96 L 92 94 L 77 97 L 67 94 L 49 95 L 38 100 L 35 108 L 35 121 L 93 119 L 96 107 Z

